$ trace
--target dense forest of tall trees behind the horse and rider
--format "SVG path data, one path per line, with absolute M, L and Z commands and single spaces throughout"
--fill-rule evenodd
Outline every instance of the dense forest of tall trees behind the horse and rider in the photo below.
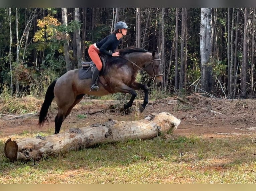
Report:
M 255 8 L 0 8 L 0 93 L 43 96 L 118 21 L 118 48 L 161 53 L 161 94 L 254 98 Z

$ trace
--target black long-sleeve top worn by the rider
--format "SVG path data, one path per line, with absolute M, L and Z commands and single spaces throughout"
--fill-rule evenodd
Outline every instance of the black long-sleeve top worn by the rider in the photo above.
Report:
M 96 42 L 96 46 L 100 49 L 100 53 L 112 56 L 112 53 L 121 42 L 122 40 L 117 40 L 116 34 L 112 33 L 111 35 L 106 36 L 101 41 Z M 111 51 L 112 53 L 110 53 L 109 51 Z

